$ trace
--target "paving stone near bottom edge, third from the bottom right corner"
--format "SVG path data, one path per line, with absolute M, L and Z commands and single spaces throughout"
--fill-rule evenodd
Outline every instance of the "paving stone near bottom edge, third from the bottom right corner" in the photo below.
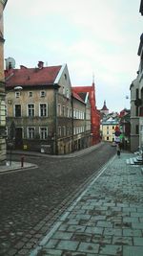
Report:
M 78 251 L 81 251 L 81 252 L 98 253 L 98 250 L 99 250 L 99 244 L 93 244 L 93 243 L 80 243 L 78 247 Z

